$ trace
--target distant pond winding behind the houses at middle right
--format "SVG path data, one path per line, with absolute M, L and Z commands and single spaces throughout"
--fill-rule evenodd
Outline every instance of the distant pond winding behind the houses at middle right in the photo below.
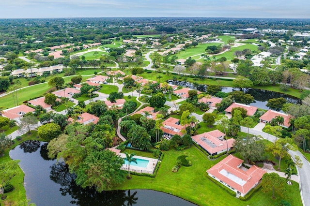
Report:
M 185 81 L 172 81 L 169 80 L 169 83 L 174 84 L 174 85 L 180 85 L 182 87 L 188 87 L 188 88 L 194 88 L 196 89 L 192 83 L 190 82 L 185 82 Z M 199 85 L 198 86 L 198 90 L 200 91 L 206 91 L 207 85 Z M 223 87 L 222 91 L 223 92 L 231 92 L 231 91 L 235 91 L 235 90 L 240 90 L 240 88 L 231 88 L 231 87 Z M 250 105 L 252 106 L 256 106 L 258 108 L 261 109 L 269 109 L 266 106 L 266 103 L 269 99 L 272 98 L 279 98 L 279 97 L 283 97 L 285 98 L 288 103 L 300 103 L 300 99 L 287 95 L 287 94 L 282 94 L 279 92 L 275 92 L 275 91 L 268 91 L 268 90 L 263 90 L 263 89 L 255 89 L 255 88 L 248 88 L 248 89 L 243 89 L 243 91 L 247 94 L 250 94 L 254 97 L 255 99 L 255 103 L 251 103 Z

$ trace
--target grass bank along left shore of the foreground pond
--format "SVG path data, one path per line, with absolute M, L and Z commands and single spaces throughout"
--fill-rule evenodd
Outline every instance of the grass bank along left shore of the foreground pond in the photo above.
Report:
M 37 131 L 31 131 L 30 135 L 23 134 L 22 139 L 20 141 L 15 140 L 14 145 L 12 145 L 10 149 L 16 147 L 17 145 L 19 145 L 20 143 L 22 143 L 26 140 L 40 140 L 40 141 L 42 141 L 42 139 L 38 139 L 37 136 L 38 136 Z M 10 149 L 7 149 L 4 152 L 4 156 L 0 157 L 0 163 L 7 162 L 7 161 L 11 160 L 11 158 L 9 156 Z M 14 186 L 15 189 L 9 193 L 5 193 L 5 195 L 7 195 L 7 197 L 5 200 L 0 200 L 1 205 L 14 205 L 14 206 L 16 206 L 19 201 L 26 200 L 26 191 L 24 188 L 24 176 L 25 176 L 24 172 L 22 171 L 22 169 L 20 167 L 18 167 L 16 176 L 14 176 L 10 180 L 11 184 Z

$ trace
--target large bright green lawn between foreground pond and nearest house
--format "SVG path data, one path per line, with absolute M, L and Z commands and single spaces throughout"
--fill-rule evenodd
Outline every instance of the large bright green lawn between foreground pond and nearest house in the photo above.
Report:
M 210 161 L 194 146 L 183 151 L 164 151 L 164 154 L 164 159 L 155 178 L 133 175 L 132 179 L 126 179 L 122 185 L 114 187 L 113 190 L 149 189 L 163 191 L 182 197 L 197 205 L 206 206 L 271 206 L 276 205 L 282 199 L 278 197 L 273 200 L 270 193 L 258 191 L 248 201 L 241 201 L 207 179 L 205 177 L 206 170 L 222 160 L 225 155 L 217 160 Z M 181 155 L 188 156 L 193 165 L 190 167 L 182 166 L 177 173 L 172 173 L 171 169 L 175 165 L 177 157 Z M 292 206 L 301 206 L 298 184 L 294 182 L 292 186 L 286 187 L 284 199 L 290 202 Z

